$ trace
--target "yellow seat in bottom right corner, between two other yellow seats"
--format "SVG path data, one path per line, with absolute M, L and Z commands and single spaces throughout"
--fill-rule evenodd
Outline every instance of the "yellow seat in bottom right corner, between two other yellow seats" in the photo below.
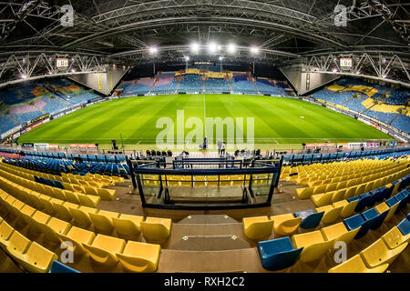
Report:
M 392 264 L 395 258 L 399 256 L 407 247 L 408 243 L 404 243 L 394 249 L 389 249 L 382 238 L 376 240 L 372 245 L 367 246 L 360 252 L 360 256 L 369 267 L 376 267 L 383 264 Z

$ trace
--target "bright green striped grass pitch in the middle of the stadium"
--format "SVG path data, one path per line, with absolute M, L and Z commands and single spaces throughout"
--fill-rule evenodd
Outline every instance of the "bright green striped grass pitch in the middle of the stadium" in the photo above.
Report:
M 155 145 L 160 117 L 177 127 L 177 110 L 190 117 L 254 117 L 254 144 L 302 144 L 392 140 L 354 118 L 299 99 L 260 95 L 156 95 L 119 98 L 88 106 L 22 135 L 20 143 Z M 190 132 L 185 128 L 185 135 Z M 215 130 L 214 130 L 215 131 Z M 176 136 L 176 134 L 175 134 Z M 226 136 L 226 135 L 225 135 Z M 246 138 L 246 136 L 244 136 Z M 279 146 L 279 145 L 278 145 Z

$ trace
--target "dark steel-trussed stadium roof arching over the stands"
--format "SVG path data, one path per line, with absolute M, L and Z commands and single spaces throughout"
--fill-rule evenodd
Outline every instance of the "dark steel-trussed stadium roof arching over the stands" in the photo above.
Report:
M 67 4 L 74 10 L 72 26 L 61 23 L 65 15 L 61 7 Z M 192 55 L 190 44 L 214 42 L 222 45 L 215 57 L 276 65 L 301 56 L 309 62 L 312 55 L 364 52 L 371 57 L 384 55 L 388 63 L 396 55 L 400 61 L 392 67 L 402 66 L 404 73 L 395 77 L 405 79 L 410 58 L 409 7 L 403 0 L 0 2 L 0 60 L 5 64 L 12 54 L 17 61 L 18 55 L 30 54 L 30 59 L 46 54 L 49 60 L 53 54 L 69 55 L 77 63 L 83 59 L 78 71 L 85 71 L 87 65 L 89 69 L 108 63 L 152 62 L 153 56 L 156 61 L 183 61 L 184 55 Z M 231 43 L 238 48 L 233 55 L 224 50 Z M 149 50 L 153 46 L 158 48 L 154 55 Z M 251 46 L 259 47 L 260 54 L 252 55 Z M 6 64 L 10 69 L 11 63 Z

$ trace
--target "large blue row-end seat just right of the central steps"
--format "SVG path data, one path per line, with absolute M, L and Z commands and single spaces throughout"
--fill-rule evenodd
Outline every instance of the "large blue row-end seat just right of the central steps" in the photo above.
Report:
M 295 249 L 288 236 L 258 243 L 261 265 L 270 271 L 292 266 L 299 259 L 302 249 L 302 247 Z

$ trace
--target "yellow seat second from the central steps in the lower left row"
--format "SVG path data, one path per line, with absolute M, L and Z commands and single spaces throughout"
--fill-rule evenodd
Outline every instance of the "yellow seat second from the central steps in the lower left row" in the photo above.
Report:
M 118 263 L 116 254 L 121 254 L 126 241 L 121 238 L 98 234 L 91 245 L 83 243 L 88 255 L 103 266 L 115 266 Z

